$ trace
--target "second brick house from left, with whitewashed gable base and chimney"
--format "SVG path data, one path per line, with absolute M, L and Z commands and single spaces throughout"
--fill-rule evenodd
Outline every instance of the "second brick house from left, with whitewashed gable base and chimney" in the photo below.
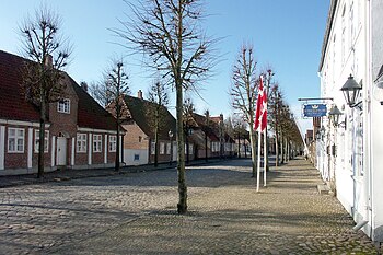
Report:
M 127 116 L 124 116 L 124 162 L 127 165 L 150 164 L 154 162 L 154 130 L 152 118 L 148 111 L 153 109 L 155 104 L 143 100 L 142 92 L 138 96 L 125 95 Z M 159 128 L 159 162 L 176 161 L 176 120 L 172 114 L 162 108 L 161 127 Z M 173 137 L 170 137 L 170 131 Z M 173 146 L 171 146 L 173 144 Z

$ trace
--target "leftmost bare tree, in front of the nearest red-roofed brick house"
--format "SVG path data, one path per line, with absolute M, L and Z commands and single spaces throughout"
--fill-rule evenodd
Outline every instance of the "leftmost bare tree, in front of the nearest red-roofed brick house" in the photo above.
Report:
M 22 90 L 27 101 L 39 108 L 39 146 L 37 177 L 44 175 L 45 123 L 49 103 L 61 98 L 65 84 L 62 69 L 71 48 L 60 35 L 60 19 L 46 8 L 37 10 L 20 26 L 23 51 L 32 60 L 25 62 Z M 40 146 L 43 144 L 43 146 Z

